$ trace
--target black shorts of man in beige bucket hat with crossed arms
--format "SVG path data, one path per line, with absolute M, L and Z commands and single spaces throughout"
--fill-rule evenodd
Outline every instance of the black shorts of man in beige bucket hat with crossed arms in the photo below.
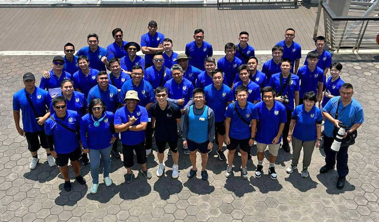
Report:
M 137 163 L 144 164 L 147 161 L 145 141 L 136 145 L 122 144 L 122 155 L 124 156 L 124 166 L 131 168 L 134 166 L 133 149 L 136 151 Z

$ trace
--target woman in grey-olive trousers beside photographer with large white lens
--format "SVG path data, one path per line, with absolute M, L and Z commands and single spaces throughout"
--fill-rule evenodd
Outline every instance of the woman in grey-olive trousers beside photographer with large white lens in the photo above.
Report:
M 292 143 L 292 163 L 287 168 L 290 174 L 294 169 L 298 168 L 301 148 L 304 148 L 302 177 L 308 177 L 308 166 L 312 159 L 313 149 L 320 146 L 321 141 L 321 122 L 323 116 L 321 110 L 315 104 L 317 95 L 315 92 L 304 93 L 304 104 L 296 106 L 292 111 L 292 120 L 290 124 L 290 132 L 287 140 Z M 292 132 L 292 133 L 291 133 Z

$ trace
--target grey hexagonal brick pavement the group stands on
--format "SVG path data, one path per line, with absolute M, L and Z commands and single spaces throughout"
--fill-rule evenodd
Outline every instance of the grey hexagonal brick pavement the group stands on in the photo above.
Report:
M 260 59 L 261 67 L 268 57 L 260 56 Z M 69 193 L 63 190 L 58 168 L 47 164 L 43 150 L 39 151 L 41 161 L 37 168 L 30 171 L 27 142 L 14 128 L 12 96 L 23 87 L 21 75 L 50 68 L 50 60 L 50 56 L 0 56 L 1 221 L 379 221 L 379 140 L 376 136 L 379 135 L 379 99 L 375 96 L 379 93 L 379 62 L 343 63 L 342 77 L 356 87 L 354 98 L 359 99 L 365 111 L 358 142 L 349 148 L 350 173 L 343 190 L 335 188 L 336 171 L 319 174 L 324 164 L 322 149 L 313 152 L 310 177 L 306 179 L 298 171 L 291 175 L 285 173 L 291 155 L 280 150 L 276 161 L 278 180 L 273 181 L 267 175 L 267 160 L 265 175 L 260 179 L 253 176 L 257 164 L 253 148 L 253 162 L 247 164 L 248 180 L 239 177 L 239 158 L 235 160 L 235 177 L 226 179 L 226 163 L 215 157 L 208 161 L 207 182 L 202 181 L 200 175 L 188 180 L 190 161 L 180 152 L 177 180 L 171 179 L 172 158 L 166 157 L 163 177 L 146 180 L 137 175 L 137 167 L 136 179 L 127 185 L 121 160 L 112 159 L 110 176 L 114 184 L 105 187 L 102 183 L 97 194 L 90 194 L 92 183 L 88 166 L 81 169 L 87 185 L 74 182 Z M 147 163 L 154 174 L 157 161 L 154 151 Z M 70 175 L 74 178 L 72 171 Z

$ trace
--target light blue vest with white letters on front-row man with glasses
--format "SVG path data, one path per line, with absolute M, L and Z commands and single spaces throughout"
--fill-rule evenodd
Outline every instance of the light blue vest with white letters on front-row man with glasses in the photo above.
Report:
M 208 106 L 205 106 L 204 112 L 201 115 L 196 115 L 193 112 L 193 106 L 189 107 L 188 113 L 188 135 L 187 139 L 196 143 L 204 143 L 208 141 Z M 206 133 L 202 130 L 206 129 Z

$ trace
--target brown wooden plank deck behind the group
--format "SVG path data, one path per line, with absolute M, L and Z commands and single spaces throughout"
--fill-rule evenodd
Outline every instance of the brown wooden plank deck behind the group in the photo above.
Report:
M 256 50 L 270 50 L 284 38 L 287 28 L 296 30 L 295 41 L 305 50 L 312 40 L 316 5 L 157 5 L 115 8 L 0 8 L 0 50 L 63 50 L 71 42 L 86 45 L 89 33 L 99 35 L 100 46 L 113 42 L 111 31 L 122 28 L 124 39 L 140 42 L 147 23 L 155 20 L 158 31 L 174 41 L 174 50 L 184 50 L 193 31 L 202 28 L 213 50 L 224 50 L 227 42 L 238 42 L 238 33 L 250 33 Z M 319 35 L 324 34 L 323 17 Z

